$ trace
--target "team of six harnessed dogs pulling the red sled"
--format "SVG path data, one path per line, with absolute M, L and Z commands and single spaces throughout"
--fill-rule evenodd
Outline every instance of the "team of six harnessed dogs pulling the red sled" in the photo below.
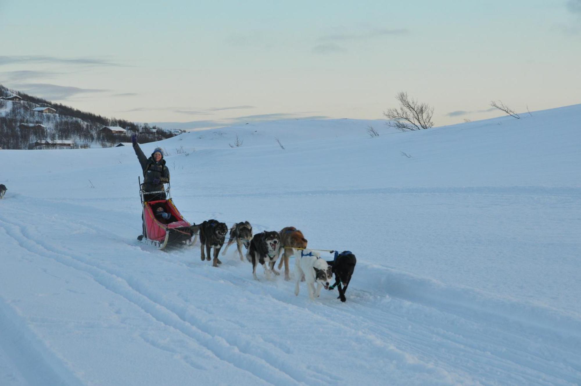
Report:
M 228 226 L 217 220 L 207 220 L 202 224 L 192 226 L 195 234 L 193 244 L 195 244 L 198 234 L 200 237 L 200 258 L 204 260 L 213 260 L 212 266 L 217 267 L 222 262 L 218 259 L 218 254 L 222 249 Z M 238 255 L 243 261 L 242 245 L 247 249 L 246 259 L 252 263 L 252 276 L 256 276 L 256 267 L 260 264 L 264 268 L 264 275 L 267 279 L 271 278 L 272 273 L 279 275 L 280 271 L 275 269 L 275 265 L 282 253 L 278 269 L 282 265 L 285 267 L 285 280 L 290 280 L 289 259 L 295 256 L 295 295 L 299 295 L 299 283 L 305 281 L 309 289 L 311 299 L 321 294 L 321 288 L 339 290 L 339 297 L 342 302 L 346 301 L 345 291 L 351 280 L 353 270 L 356 265 L 356 258 L 353 253 L 344 251 L 335 252 L 335 259 L 327 261 L 321 258 L 320 253 L 311 251 L 307 248 L 307 239 L 303 233 L 295 227 L 282 228 L 281 231 L 264 231 L 252 234 L 252 225 L 248 221 L 236 223 L 230 229 L 229 240 L 222 251 L 225 255 L 230 245 L 236 242 Z M 213 249 L 212 255 L 210 255 Z M 335 284 L 331 285 L 335 274 Z M 317 284 L 317 288 L 315 288 Z

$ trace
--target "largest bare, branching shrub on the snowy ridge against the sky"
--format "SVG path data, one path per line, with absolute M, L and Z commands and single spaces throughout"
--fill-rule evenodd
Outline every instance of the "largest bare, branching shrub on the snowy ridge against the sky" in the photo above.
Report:
M 401 131 L 421 130 L 434 126 L 432 122 L 434 109 L 428 103 L 419 103 L 404 91 L 399 92 L 396 99 L 400 102 L 400 108 L 383 112 L 389 119 L 388 126 L 399 128 Z

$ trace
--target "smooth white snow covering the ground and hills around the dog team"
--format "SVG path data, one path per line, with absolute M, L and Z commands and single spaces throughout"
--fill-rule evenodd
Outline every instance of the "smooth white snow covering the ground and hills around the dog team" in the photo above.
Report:
M 278 121 L 141 146 L 170 153 L 189 221 L 353 251 L 345 303 L 254 281 L 235 248 L 213 268 L 199 245 L 139 243 L 131 147 L 4 150 L 0 384 L 578 385 L 580 114 L 408 133 Z

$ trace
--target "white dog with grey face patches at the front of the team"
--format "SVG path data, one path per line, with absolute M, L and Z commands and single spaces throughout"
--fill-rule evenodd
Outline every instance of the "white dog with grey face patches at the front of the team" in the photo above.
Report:
M 331 267 L 318 252 L 310 249 L 298 250 L 295 252 L 295 295 L 299 295 L 299 283 L 304 274 L 304 281 L 307 282 L 309 288 L 309 296 L 311 299 L 318 298 L 321 294 L 321 288 L 329 289 L 329 284 L 333 279 Z M 317 289 L 315 290 L 315 283 Z

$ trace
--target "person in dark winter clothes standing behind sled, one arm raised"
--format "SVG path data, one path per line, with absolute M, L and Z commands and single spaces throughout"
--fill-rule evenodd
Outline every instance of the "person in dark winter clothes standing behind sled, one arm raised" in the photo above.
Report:
M 137 143 L 137 134 L 131 135 L 131 142 L 133 144 L 133 150 L 141 169 L 144 171 L 144 183 L 142 189 L 145 192 L 156 192 L 164 190 L 163 184 L 170 182 L 170 170 L 167 169 L 166 160 L 163 159 L 163 151 L 161 148 L 156 148 L 151 156 L 147 158 L 144 152 L 139 147 Z M 155 201 L 166 199 L 166 194 L 154 193 L 154 194 L 144 194 L 144 201 Z M 142 215 L 143 221 L 143 234 L 138 237 L 141 240 L 145 235 L 145 219 Z

